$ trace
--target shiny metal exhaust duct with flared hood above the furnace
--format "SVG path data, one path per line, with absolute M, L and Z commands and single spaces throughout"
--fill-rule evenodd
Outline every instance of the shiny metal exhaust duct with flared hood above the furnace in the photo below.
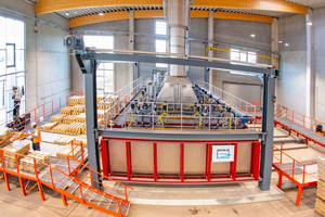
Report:
M 190 23 L 190 0 L 167 0 L 167 25 L 169 36 L 169 53 L 185 55 L 186 35 Z M 157 101 L 173 103 L 195 102 L 197 99 L 192 82 L 186 77 L 183 65 L 170 65 L 169 76 L 157 98 Z

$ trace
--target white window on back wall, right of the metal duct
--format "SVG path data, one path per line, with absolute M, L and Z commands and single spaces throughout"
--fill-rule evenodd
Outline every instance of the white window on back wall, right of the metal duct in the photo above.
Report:
M 243 65 L 245 63 L 256 63 L 257 56 L 256 52 L 249 52 L 249 51 L 242 51 L 238 49 L 231 49 L 231 60 L 236 62 L 243 62 Z M 231 62 L 232 64 L 239 64 L 235 62 Z M 251 73 L 242 73 L 242 72 L 230 72 L 231 74 L 237 74 L 237 75 L 247 75 L 247 76 L 255 76 L 255 74 Z

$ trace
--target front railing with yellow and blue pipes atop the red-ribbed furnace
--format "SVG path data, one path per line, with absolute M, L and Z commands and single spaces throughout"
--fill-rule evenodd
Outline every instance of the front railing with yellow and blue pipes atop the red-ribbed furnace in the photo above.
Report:
M 200 104 L 202 108 L 197 111 L 190 103 L 168 103 L 168 112 L 162 110 L 164 103 L 146 102 L 146 110 L 128 108 L 125 113 L 112 113 L 118 117 L 115 119 L 115 126 L 109 127 L 157 130 L 255 130 L 255 123 L 250 129 L 245 126 L 251 117 L 255 118 L 255 114 L 246 115 L 235 110 L 229 112 L 217 104 Z M 221 110 L 223 111 L 220 112 Z

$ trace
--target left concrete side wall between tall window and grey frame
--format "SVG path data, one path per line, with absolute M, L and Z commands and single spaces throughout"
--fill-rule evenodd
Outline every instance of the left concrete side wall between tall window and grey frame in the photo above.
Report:
M 21 0 L 0 0 L 0 7 L 29 16 L 35 16 L 34 5 Z M 72 91 L 70 63 L 63 39 L 67 31 L 38 23 L 34 33 L 34 21 L 0 10 L 0 14 L 26 23 L 26 110 L 51 101 Z M 54 15 L 38 18 L 68 28 L 68 21 Z

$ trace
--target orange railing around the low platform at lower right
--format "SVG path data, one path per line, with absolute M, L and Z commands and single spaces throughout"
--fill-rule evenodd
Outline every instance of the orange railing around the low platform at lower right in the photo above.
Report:
M 317 164 L 316 161 L 304 164 L 300 163 L 283 151 L 283 144 L 273 145 L 273 164 L 284 165 L 286 170 L 289 171 L 287 175 L 300 183 L 306 183 L 307 177 L 313 177 L 317 174 L 315 170 L 310 173 L 307 169 L 308 166 Z

